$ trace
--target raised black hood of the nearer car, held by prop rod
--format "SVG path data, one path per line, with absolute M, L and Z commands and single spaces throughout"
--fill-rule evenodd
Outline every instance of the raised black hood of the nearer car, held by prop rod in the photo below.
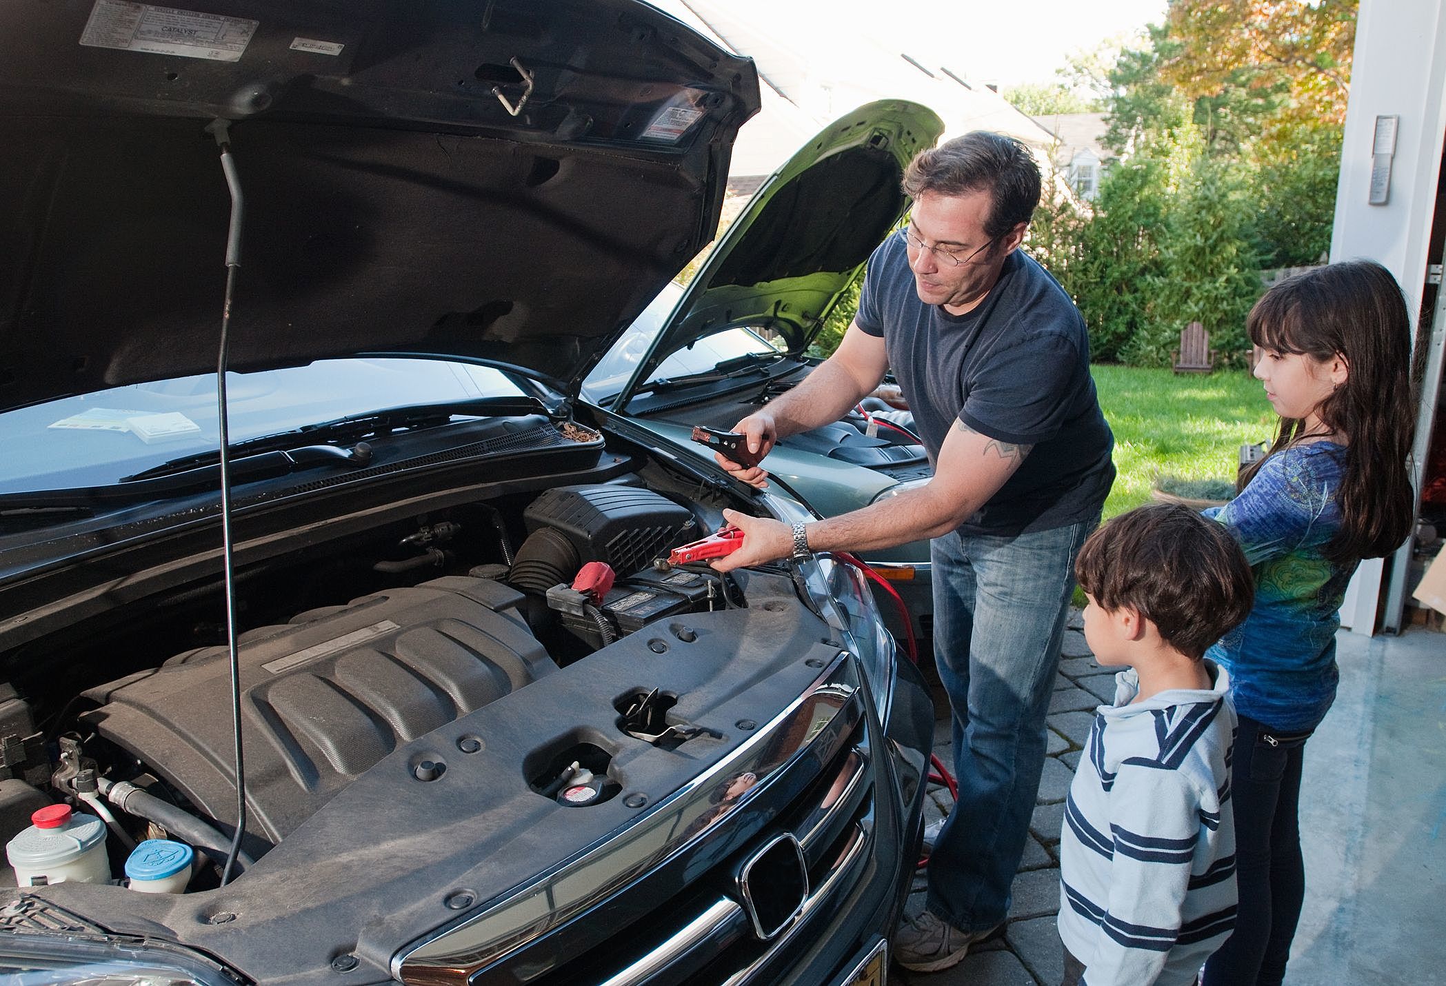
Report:
M 359 353 L 580 379 L 717 227 L 749 59 L 633 0 L 0 4 L 0 409 Z M 214 130 L 214 127 L 213 127 Z

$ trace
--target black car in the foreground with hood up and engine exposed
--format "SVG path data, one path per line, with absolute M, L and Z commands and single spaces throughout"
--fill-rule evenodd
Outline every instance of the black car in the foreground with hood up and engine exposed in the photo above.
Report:
M 882 982 L 918 674 L 578 398 L 758 98 L 632 0 L 0 6 L 6 982 Z

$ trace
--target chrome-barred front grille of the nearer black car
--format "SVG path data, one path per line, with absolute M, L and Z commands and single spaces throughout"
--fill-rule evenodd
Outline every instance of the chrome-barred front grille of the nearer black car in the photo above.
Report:
M 852 659 L 846 665 L 856 674 Z M 444 934 L 432 943 L 427 963 L 416 963 L 416 953 L 399 963 L 401 979 L 418 986 L 763 982 L 763 970 L 788 950 L 798 950 L 801 941 L 811 941 L 816 934 L 810 928 L 830 919 L 837 901 L 869 869 L 876 788 L 870 721 L 863 714 L 863 691 L 853 690 L 829 724 L 840 729 L 818 729 L 788 763 L 761 779 L 716 823 L 691 834 L 684 830 L 661 846 L 659 863 L 590 902 L 586 912 L 562 919 L 534 909 L 528 940 L 512 940 L 490 954 L 477 948 L 447 956 L 445 948 L 437 948 L 445 944 Z M 790 733 L 798 740 L 800 723 L 775 720 L 775 726 L 772 736 L 758 737 L 763 746 L 785 742 Z M 735 769 L 730 762 L 722 773 L 730 776 Z M 739 870 L 779 839 L 797 840 L 801 847 L 807 891 L 781 902 L 785 912 L 797 905 L 798 914 L 765 938 L 742 892 Z M 510 951 L 505 951 L 508 946 Z

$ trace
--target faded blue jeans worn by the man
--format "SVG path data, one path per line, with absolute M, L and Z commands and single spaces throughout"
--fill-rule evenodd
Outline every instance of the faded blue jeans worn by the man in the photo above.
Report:
M 928 909 L 963 931 L 1005 919 L 1044 769 L 1074 555 L 1096 520 L 1015 538 L 936 538 L 934 662 L 953 711 L 959 801 L 928 857 Z

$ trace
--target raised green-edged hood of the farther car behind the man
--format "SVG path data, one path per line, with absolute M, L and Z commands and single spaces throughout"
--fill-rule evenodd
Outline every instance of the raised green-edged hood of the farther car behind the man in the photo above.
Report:
M 869 254 L 908 208 L 904 168 L 944 121 L 917 103 L 881 100 L 833 121 L 749 201 L 688 283 L 619 395 L 672 353 L 723 328 L 778 333 L 803 353 Z

